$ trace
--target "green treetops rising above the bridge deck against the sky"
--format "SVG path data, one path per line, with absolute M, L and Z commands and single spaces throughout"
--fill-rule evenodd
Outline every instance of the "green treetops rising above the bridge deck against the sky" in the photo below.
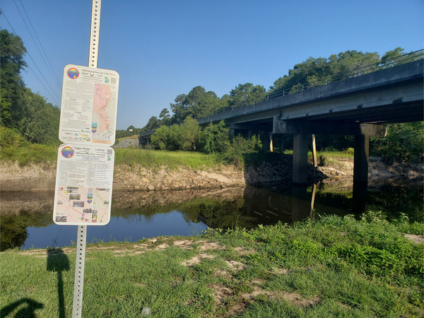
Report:
M 177 95 L 175 101 L 170 103 L 170 110 L 164 108 L 158 117 L 151 117 L 140 131 L 152 131 L 163 125 L 182 124 L 187 117 L 194 119 L 206 117 L 227 107 L 252 105 L 285 91 L 295 93 L 302 90 L 302 87 L 310 88 L 340 81 L 352 76 L 353 72 L 358 75 L 369 73 L 375 71 L 377 67 L 391 66 L 393 59 L 404 54 L 404 49 L 396 47 L 382 57 L 379 57 L 377 52 L 363 53 L 355 50 L 331 54 L 329 58 L 310 57 L 293 66 L 293 69 L 288 71 L 288 75 L 276 79 L 269 90 L 261 85 L 240 83 L 230 90 L 230 93 L 218 97 L 213 91 L 206 91 L 204 87 L 196 86 L 189 93 Z M 422 58 L 422 53 L 411 55 L 407 60 L 396 63 L 401 64 Z

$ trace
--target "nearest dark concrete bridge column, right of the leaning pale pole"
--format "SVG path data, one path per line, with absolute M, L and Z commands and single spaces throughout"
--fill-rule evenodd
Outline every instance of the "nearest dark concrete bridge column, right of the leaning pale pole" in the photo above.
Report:
M 368 192 L 368 156 L 370 136 L 355 135 L 353 155 L 353 213 L 365 213 Z

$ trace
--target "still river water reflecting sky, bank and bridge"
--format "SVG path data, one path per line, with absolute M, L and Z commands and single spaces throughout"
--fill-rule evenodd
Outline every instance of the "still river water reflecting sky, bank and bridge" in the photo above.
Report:
M 387 194 L 387 189 L 384 192 Z M 401 194 L 403 192 L 400 192 Z M 399 198 L 377 193 L 372 204 L 386 205 Z M 413 198 L 406 191 L 401 198 Z M 423 211 L 421 200 L 409 211 Z M 418 198 L 419 199 L 419 198 Z M 398 199 L 405 205 L 406 199 Z M 52 222 L 53 193 L 1 194 L 1 250 L 64 247 L 76 240 L 76 226 Z M 112 218 L 102 226 L 88 226 L 88 242 L 130 241 L 160 235 L 198 235 L 206 228 L 254 228 L 278 221 L 293 223 L 314 215 L 350 213 L 352 192 L 325 192 L 322 186 L 292 187 L 290 192 L 229 188 L 174 192 L 115 192 Z M 416 208 L 413 208 L 416 206 Z M 396 211 L 402 211 L 398 208 Z M 394 216 L 396 217 L 396 216 Z

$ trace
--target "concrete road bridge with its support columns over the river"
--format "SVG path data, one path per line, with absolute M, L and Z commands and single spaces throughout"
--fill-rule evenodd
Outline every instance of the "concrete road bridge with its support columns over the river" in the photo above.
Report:
M 293 134 L 293 183 L 307 182 L 310 134 L 355 136 L 353 210 L 365 211 L 369 137 L 384 136 L 382 124 L 423 120 L 423 59 L 344 81 L 235 108 L 198 119 L 225 120 L 232 132 L 259 134 L 272 151 L 273 136 Z

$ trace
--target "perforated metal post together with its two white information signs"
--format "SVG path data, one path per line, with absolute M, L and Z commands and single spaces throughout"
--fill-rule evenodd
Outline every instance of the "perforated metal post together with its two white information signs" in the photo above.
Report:
M 119 75 L 98 69 L 101 0 L 93 0 L 88 66 L 64 68 L 53 220 L 78 225 L 72 317 L 81 317 L 87 225 L 110 220 Z

